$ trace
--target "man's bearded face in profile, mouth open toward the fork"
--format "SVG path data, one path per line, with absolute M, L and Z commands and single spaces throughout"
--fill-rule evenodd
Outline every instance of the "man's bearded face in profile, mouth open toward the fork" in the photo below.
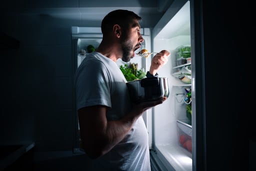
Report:
M 140 25 L 137 20 L 130 24 L 129 28 L 122 32 L 120 39 L 122 48 L 122 60 L 127 62 L 134 57 L 134 51 L 140 47 L 144 39 L 140 34 Z

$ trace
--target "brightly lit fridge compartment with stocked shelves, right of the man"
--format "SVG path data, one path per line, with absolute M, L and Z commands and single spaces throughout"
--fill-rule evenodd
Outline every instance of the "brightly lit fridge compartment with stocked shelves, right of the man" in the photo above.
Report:
M 191 53 L 194 47 L 190 30 L 187 0 L 174 0 L 152 30 L 153 51 L 167 49 L 171 53 L 158 71 L 161 77 L 168 78 L 170 94 L 152 109 L 152 170 L 192 170 L 192 143 L 196 135 L 192 132 L 195 122 L 191 117 L 195 102 L 191 97 L 194 95 L 191 58 L 195 56 Z

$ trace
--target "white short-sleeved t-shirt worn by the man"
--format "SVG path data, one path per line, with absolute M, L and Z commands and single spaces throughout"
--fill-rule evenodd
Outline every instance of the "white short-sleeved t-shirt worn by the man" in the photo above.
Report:
M 75 99 L 77 110 L 98 104 L 108 106 L 108 120 L 119 119 L 131 109 L 121 70 L 98 52 L 89 53 L 77 68 Z M 150 170 L 148 133 L 142 116 L 116 146 L 92 162 L 92 170 Z

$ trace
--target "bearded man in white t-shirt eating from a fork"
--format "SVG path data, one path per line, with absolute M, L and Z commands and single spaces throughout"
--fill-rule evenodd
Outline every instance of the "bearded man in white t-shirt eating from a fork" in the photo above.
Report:
M 129 61 L 144 40 L 140 19 L 128 10 L 109 12 L 101 22 L 101 43 L 76 71 L 80 137 L 92 170 L 150 170 L 148 133 L 141 115 L 166 98 L 132 104 L 126 79 L 115 63 L 118 58 Z M 147 76 L 155 76 L 169 54 L 157 53 Z

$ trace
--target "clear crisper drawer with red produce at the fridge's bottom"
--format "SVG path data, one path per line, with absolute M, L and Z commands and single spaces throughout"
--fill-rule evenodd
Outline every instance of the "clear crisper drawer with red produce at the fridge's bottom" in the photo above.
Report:
M 192 152 L 192 126 L 177 120 L 177 135 L 179 144 L 189 152 Z

